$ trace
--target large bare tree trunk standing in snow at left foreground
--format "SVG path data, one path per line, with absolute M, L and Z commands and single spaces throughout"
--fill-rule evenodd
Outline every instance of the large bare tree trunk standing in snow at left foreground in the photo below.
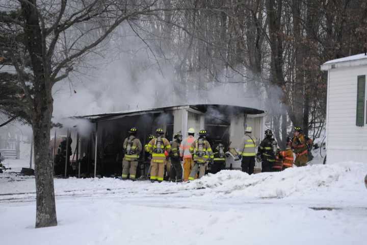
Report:
M 53 167 L 49 161 L 51 116 L 53 113 L 52 85 L 50 82 L 50 61 L 45 56 L 45 38 L 41 32 L 36 0 L 21 2 L 25 19 L 24 33 L 31 57 L 34 81 L 32 100 L 32 128 L 35 151 L 36 177 L 36 228 L 56 226 L 56 205 Z M 26 89 L 26 88 L 24 88 Z

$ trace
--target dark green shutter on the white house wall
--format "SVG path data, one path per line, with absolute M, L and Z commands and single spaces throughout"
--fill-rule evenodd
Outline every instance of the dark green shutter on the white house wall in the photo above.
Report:
M 367 124 L 365 119 L 365 114 L 367 114 L 366 106 L 366 93 L 365 93 L 365 76 L 358 76 L 357 80 L 357 110 L 356 110 L 356 125 L 358 127 L 363 127 Z

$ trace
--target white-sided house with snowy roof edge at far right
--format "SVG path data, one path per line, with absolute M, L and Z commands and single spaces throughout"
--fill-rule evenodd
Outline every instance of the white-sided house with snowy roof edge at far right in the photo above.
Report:
M 324 63 L 327 86 L 327 162 L 367 161 L 367 55 Z

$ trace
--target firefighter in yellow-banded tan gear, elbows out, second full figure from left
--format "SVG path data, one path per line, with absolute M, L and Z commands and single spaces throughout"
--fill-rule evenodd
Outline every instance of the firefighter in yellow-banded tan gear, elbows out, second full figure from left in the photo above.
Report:
M 152 155 L 150 161 L 150 181 L 162 182 L 165 173 L 166 156 L 171 151 L 171 144 L 164 137 L 163 129 L 155 130 L 155 138 L 149 141 L 147 150 Z

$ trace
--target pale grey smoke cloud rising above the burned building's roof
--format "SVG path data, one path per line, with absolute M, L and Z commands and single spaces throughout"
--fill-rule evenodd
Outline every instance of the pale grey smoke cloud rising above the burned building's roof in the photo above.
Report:
M 228 79 L 228 71 L 223 69 L 218 77 L 226 82 L 221 83 L 198 71 L 191 78 L 205 82 L 181 84 L 173 62 L 154 57 L 126 27 L 120 29 L 118 37 L 111 40 L 103 57 L 94 55 L 88 60 L 88 67 L 56 84 L 55 117 L 188 104 L 227 104 L 262 110 L 272 106 L 273 111 L 277 110 L 282 91 L 270 88 L 272 95 L 268 100 L 264 91 L 270 85 L 254 76 L 246 78 L 233 72 Z M 270 103 L 265 103 L 265 99 Z

